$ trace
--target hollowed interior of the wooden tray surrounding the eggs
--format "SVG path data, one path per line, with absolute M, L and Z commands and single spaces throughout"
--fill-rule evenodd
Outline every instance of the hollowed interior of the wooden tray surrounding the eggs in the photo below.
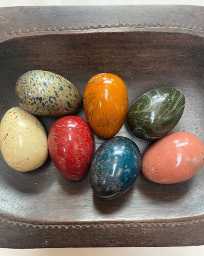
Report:
M 24 72 L 55 72 L 73 82 L 82 94 L 89 78 L 109 72 L 125 82 L 130 105 L 155 87 L 180 88 L 186 107 L 173 131 L 204 139 L 203 37 L 148 31 L 36 34 L 1 42 L 0 56 L 1 118 L 17 105 L 15 82 Z M 78 115 L 85 118 L 83 109 Z M 47 132 L 55 121 L 39 119 Z M 134 137 L 126 124 L 117 136 L 134 140 L 142 154 L 150 144 Z M 103 140 L 94 138 L 96 149 Z M 202 171 L 174 185 L 154 184 L 140 175 L 127 193 L 105 202 L 93 196 L 89 175 L 78 182 L 67 181 L 50 158 L 28 173 L 12 170 L 0 158 L 0 216 L 37 222 L 131 221 L 199 216 L 204 212 Z

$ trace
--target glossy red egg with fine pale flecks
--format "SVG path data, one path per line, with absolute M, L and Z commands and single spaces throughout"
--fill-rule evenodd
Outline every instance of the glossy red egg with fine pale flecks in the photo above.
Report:
M 59 118 L 49 130 L 48 148 L 59 172 L 68 180 L 82 179 L 94 153 L 93 134 L 78 116 Z

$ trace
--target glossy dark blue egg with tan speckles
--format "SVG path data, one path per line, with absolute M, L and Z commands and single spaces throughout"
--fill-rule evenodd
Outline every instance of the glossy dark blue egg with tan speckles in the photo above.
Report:
M 114 137 L 101 144 L 94 154 L 90 180 L 94 194 L 114 199 L 127 191 L 137 179 L 141 167 L 138 146 L 125 137 Z

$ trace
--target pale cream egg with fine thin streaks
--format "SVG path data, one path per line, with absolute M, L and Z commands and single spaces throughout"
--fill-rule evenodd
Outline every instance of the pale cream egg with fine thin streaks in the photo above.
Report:
M 34 115 L 15 107 L 6 112 L 0 123 L 0 148 L 11 168 L 27 172 L 45 162 L 47 135 Z

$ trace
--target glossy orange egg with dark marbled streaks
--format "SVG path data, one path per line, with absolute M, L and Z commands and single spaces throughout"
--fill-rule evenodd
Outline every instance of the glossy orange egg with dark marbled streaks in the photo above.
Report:
M 109 139 L 118 133 L 126 118 L 127 108 L 127 89 L 118 76 L 101 73 L 86 84 L 84 112 L 99 137 Z

